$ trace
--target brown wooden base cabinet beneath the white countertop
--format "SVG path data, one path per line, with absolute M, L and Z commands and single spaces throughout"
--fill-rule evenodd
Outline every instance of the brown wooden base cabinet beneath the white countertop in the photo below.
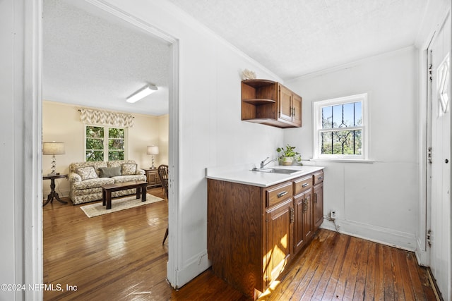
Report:
M 314 173 L 268 188 L 209 178 L 213 273 L 249 297 L 265 291 L 314 237 L 314 216 L 323 221 L 323 212 L 314 209 L 323 210 L 323 184 L 317 182 L 314 206 L 314 183 Z

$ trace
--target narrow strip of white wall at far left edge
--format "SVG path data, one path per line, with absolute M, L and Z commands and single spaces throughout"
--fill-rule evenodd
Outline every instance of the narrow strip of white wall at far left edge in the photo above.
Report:
M 16 122 L 23 119 L 15 116 L 15 81 L 14 72 L 14 41 L 13 41 L 13 1 L 0 2 L 0 36 L 2 37 L 2 47 L 0 47 L 0 124 L 3 131 L 0 143 L 0 164 L 4 168 L 4 173 L 0 175 L 0 188 L 3 191 L 3 202 L 0 202 L 0 220 L 2 223 L 1 244 L 0 244 L 0 282 L 1 283 L 19 283 L 22 282 L 21 268 L 23 267 L 21 250 L 18 240 L 22 236 L 22 229 L 16 225 L 20 223 L 20 217 L 15 213 L 18 202 L 16 195 L 16 169 L 15 161 L 18 161 L 20 154 L 16 154 L 14 142 L 20 139 L 20 133 L 16 134 L 14 130 Z M 16 17 L 17 18 L 17 17 Z M 3 39 L 4 37 L 4 39 Z M 20 51 L 20 48 L 17 49 Z M 20 52 L 18 52 L 20 53 Z M 18 64 L 20 64 L 18 62 Z M 19 129 L 20 130 L 20 129 Z M 23 210 L 23 208 L 19 208 Z M 13 300 L 14 293 L 0 291 L 1 300 Z

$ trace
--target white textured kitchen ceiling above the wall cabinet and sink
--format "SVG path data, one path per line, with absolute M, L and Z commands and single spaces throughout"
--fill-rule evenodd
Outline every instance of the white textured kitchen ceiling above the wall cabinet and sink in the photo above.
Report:
M 415 43 L 426 0 L 168 0 L 281 78 Z

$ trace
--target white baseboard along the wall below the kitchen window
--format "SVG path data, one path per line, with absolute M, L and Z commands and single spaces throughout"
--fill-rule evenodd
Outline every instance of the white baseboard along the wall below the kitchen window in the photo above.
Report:
M 398 247 L 399 249 L 412 252 L 415 252 L 417 249 L 416 237 L 412 233 L 405 233 L 379 226 L 372 226 L 341 219 L 336 219 L 336 224 L 340 225 L 338 230 L 343 234 L 378 242 L 382 245 Z M 333 221 L 328 221 L 326 219 L 323 221 L 321 228 L 336 231 Z

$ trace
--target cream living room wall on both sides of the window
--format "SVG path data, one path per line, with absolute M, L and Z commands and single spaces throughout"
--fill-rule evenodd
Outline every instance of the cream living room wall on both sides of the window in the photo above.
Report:
M 57 173 L 69 173 L 69 164 L 85 161 L 83 156 L 85 124 L 80 120 L 80 106 L 61 102 L 42 102 L 42 141 L 64 142 L 66 154 L 55 156 Z M 127 128 L 126 159 L 135 160 L 138 168 L 149 168 L 151 156 L 146 154 L 148 145 L 158 145 L 160 154 L 155 156 L 155 166 L 168 162 L 168 116 L 150 116 L 133 113 L 133 127 Z M 42 156 L 42 174 L 50 173 L 52 156 Z M 55 180 L 60 197 L 69 195 L 69 181 Z M 42 183 L 42 195 L 47 199 L 49 180 Z

